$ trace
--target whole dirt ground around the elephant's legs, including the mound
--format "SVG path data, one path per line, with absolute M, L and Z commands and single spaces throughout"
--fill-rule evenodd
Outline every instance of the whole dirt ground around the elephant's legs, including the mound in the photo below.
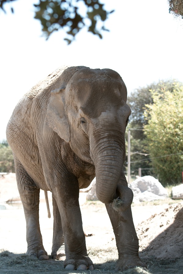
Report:
M 8 181 L 0 178 L 0 273 L 111 273 L 115 274 L 117 248 L 113 229 L 105 206 L 86 202 L 80 193 L 83 228 L 88 255 L 94 263 L 93 271 L 66 271 L 62 260 L 39 261 L 25 255 L 27 251 L 26 224 L 21 203 L 3 203 L 18 196 L 14 175 Z M 52 211 L 51 196 L 49 196 Z M 41 193 L 41 201 L 44 195 Z M 135 268 L 124 274 L 183 273 L 183 201 L 171 198 L 162 201 L 132 204 L 134 224 L 139 238 L 140 257 L 148 269 Z M 45 202 L 40 203 L 40 226 L 43 244 L 48 254 L 52 247 L 53 217 L 47 217 Z M 63 258 L 64 259 L 64 258 Z M 119 272 L 118 272 L 119 273 Z

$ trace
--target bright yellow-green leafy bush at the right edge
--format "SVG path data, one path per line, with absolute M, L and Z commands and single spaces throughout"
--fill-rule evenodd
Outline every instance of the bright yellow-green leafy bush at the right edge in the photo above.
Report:
M 148 149 L 160 182 L 178 184 L 183 171 L 183 85 L 173 90 L 151 90 L 153 104 L 146 105 L 144 126 Z

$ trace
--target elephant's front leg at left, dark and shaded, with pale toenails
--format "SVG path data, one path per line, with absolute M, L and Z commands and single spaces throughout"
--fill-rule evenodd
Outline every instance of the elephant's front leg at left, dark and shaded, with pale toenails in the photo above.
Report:
M 55 188 L 53 195 L 62 220 L 65 254 L 64 268 L 68 270 L 93 269 L 88 257 L 79 207 L 79 187 L 77 179 Z

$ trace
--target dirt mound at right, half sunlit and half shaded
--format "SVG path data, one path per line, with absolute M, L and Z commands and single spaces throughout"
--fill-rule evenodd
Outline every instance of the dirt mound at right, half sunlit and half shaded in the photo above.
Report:
M 136 231 L 143 255 L 158 260 L 183 258 L 183 202 L 152 215 Z

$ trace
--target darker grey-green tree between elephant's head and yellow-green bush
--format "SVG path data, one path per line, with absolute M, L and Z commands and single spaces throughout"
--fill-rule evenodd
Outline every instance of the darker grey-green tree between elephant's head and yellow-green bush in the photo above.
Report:
M 131 115 L 127 131 L 128 129 L 131 131 L 131 172 L 134 175 L 138 175 L 138 168 L 140 167 L 143 176 L 153 175 L 156 177 L 156 170 L 154 170 L 151 155 L 149 155 L 148 140 L 143 130 L 144 126 L 149 123 L 148 119 L 144 117 L 144 111 L 146 105 L 153 104 L 151 90 L 163 93 L 166 88 L 170 93 L 173 93 L 177 83 L 175 80 L 161 80 L 158 83 L 138 88 L 128 96 L 127 104 L 131 107 Z

